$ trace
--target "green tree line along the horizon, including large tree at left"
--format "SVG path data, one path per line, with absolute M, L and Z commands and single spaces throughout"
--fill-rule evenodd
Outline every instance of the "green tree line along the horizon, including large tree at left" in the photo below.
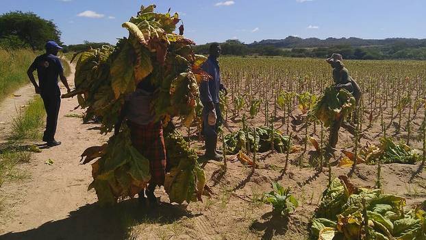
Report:
M 42 50 L 47 40 L 60 45 L 61 32 L 51 20 L 40 18 L 34 12 L 8 12 L 0 15 L 0 48 L 31 48 Z M 378 45 L 380 44 L 380 45 Z M 85 41 L 78 45 L 64 45 L 66 51 L 86 51 L 108 43 Z M 208 54 L 209 43 L 194 47 L 196 53 Z M 362 46 L 364 45 L 364 46 Z M 302 46 L 302 47 L 300 47 Z M 318 47 L 321 46 L 321 47 Z M 231 56 L 284 56 L 292 58 L 326 58 L 331 53 L 342 53 L 346 59 L 385 60 L 412 59 L 426 60 L 426 40 L 387 38 L 364 40 L 361 38 L 318 38 L 302 39 L 289 36 L 282 40 L 262 40 L 252 44 L 240 40 L 221 43 L 223 55 Z

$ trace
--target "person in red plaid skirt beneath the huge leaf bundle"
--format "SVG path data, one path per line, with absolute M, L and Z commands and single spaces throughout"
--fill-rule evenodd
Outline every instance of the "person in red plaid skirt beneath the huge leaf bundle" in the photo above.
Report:
M 164 145 L 162 121 L 155 120 L 151 102 L 155 87 L 150 80 L 143 80 L 136 91 L 126 97 L 120 117 L 114 125 L 114 134 L 118 134 L 121 124 L 127 119 L 131 144 L 149 160 L 151 180 L 147 189 L 140 191 L 138 200 L 141 204 L 158 205 L 154 195 L 155 187 L 164 184 L 166 176 L 166 147 Z M 147 197 L 145 197 L 145 194 Z M 148 200 L 148 202 L 147 202 Z

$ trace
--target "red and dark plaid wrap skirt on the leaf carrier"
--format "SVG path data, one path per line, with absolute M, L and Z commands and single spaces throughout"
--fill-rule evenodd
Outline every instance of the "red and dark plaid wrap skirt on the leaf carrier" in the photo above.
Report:
M 162 123 L 139 125 L 127 121 L 127 125 L 130 128 L 131 143 L 140 154 L 149 160 L 149 171 L 151 172 L 149 183 L 162 186 L 166 176 L 166 147 Z

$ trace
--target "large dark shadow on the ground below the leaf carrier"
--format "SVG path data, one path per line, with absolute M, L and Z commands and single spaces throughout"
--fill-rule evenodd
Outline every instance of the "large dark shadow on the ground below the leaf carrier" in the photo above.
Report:
M 58 206 L 60 207 L 60 206 Z M 194 217 L 184 208 L 162 203 L 158 208 L 143 208 L 138 200 L 127 200 L 110 208 L 87 204 L 68 217 L 47 221 L 38 228 L 8 232 L 1 240 L 127 239 L 128 230 L 141 222 L 171 224 L 181 217 Z

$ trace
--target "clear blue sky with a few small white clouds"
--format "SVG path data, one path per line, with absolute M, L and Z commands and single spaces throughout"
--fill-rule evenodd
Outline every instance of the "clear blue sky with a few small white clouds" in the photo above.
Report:
M 1 0 L 0 14 L 32 11 L 57 23 L 62 41 L 116 43 L 140 5 L 179 12 L 197 44 L 301 38 L 426 38 L 425 0 Z

